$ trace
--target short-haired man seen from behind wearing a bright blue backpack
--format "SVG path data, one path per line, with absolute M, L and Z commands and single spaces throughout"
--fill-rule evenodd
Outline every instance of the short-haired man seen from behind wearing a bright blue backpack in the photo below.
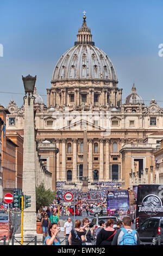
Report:
M 140 245 L 139 234 L 131 229 L 131 218 L 126 216 L 122 220 L 123 228 L 116 231 L 111 245 Z

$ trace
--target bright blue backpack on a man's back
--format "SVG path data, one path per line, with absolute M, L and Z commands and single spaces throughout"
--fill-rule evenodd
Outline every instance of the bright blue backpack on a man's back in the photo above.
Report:
M 129 230 L 126 230 L 125 228 L 121 228 L 124 235 L 122 236 L 122 239 L 119 243 L 119 245 L 137 245 L 135 233 L 136 230 L 133 230 L 130 232 Z

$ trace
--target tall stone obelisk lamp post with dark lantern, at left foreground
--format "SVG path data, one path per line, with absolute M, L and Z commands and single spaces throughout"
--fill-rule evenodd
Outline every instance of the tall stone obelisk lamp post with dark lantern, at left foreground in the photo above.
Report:
M 23 233 L 36 235 L 36 179 L 35 179 L 35 127 L 34 127 L 34 87 L 36 76 L 23 77 L 24 96 L 24 142 L 22 191 L 31 196 L 31 206 L 24 209 Z M 27 95 L 28 94 L 28 95 Z

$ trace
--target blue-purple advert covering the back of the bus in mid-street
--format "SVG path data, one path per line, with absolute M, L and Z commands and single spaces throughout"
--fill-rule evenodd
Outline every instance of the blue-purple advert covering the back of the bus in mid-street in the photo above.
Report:
M 127 215 L 129 194 L 127 190 L 110 190 L 107 195 L 108 216 Z

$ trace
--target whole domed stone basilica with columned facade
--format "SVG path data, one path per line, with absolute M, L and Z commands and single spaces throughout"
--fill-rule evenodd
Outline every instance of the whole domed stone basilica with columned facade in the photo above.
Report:
M 58 181 L 83 179 L 84 131 L 89 182 L 118 180 L 128 187 L 135 162 L 139 177 L 142 170 L 154 166 L 153 151 L 159 147 L 163 131 L 163 109 L 154 99 L 145 106 L 136 87 L 131 84 L 131 92 L 122 104 L 114 65 L 95 46 L 84 16 L 77 41 L 55 65 L 51 87 L 47 88 L 47 105 L 36 88 L 34 92 L 37 150 L 53 173 L 56 144 Z M 7 108 L 7 130 L 23 136 L 23 106 L 18 108 L 10 101 Z M 151 147 L 150 161 L 146 159 L 147 151 L 142 156 L 139 150 L 145 144 Z M 136 150 L 129 150 L 133 148 Z

